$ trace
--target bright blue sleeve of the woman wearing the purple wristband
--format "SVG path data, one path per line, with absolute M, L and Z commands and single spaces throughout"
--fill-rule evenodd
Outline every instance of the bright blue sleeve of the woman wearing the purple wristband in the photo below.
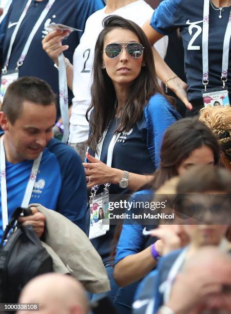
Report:
M 148 200 L 152 197 L 153 192 L 151 190 L 142 190 L 132 194 L 130 200 L 140 202 L 144 200 L 144 198 L 145 200 Z M 129 212 L 131 213 L 132 211 L 134 212 L 135 209 L 131 209 Z M 123 224 L 120 239 L 117 245 L 117 251 L 115 253 L 114 264 L 118 263 L 128 255 L 136 254 L 143 250 L 145 236 L 143 235 L 142 231 L 143 226 L 137 224 L 135 221 L 133 224 Z

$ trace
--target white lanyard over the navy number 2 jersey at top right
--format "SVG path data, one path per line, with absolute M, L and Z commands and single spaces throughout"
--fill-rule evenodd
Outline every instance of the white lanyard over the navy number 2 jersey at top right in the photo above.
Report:
M 203 10 L 203 34 L 202 34 L 202 63 L 203 63 L 203 78 L 202 83 L 206 91 L 206 85 L 208 84 L 208 28 L 209 28 L 209 0 L 204 0 Z M 222 71 L 221 81 L 223 82 L 223 88 L 228 77 L 228 55 L 229 55 L 229 42 L 231 35 L 231 10 L 229 14 L 228 24 L 225 31 L 223 53 L 222 53 Z

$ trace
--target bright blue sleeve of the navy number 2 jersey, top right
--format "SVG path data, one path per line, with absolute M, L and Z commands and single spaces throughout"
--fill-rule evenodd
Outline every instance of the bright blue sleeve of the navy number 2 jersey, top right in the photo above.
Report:
M 182 0 L 162 1 L 151 17 L 151 27 L 163 35 L 168 35 L 178 28 L 180 25 L 175 23 L 175 16 L 179 17 L 177 10 L 181 1 Z

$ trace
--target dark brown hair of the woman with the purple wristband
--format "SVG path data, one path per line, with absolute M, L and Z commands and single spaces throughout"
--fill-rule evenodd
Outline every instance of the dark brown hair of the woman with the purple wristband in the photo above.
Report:
M 152 188 L 158 189 L 165 181 L 178 175 L 177 168 L 190 153 L 201 146 L 209 147 L 214 153 L 215 165 L 220 161 L 220 146 L 213 132 L 195 118 L 181 119 L 166 131 L 161 146 L 160 168 L 154 173 Z

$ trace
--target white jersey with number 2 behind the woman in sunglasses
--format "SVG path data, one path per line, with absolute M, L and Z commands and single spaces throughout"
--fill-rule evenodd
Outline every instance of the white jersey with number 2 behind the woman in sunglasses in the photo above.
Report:
M 73 94 L 72 113 L 70 117 L 70 143 L 81 143 L 88 138 L 88 122 L 85 114 L 91 102 L 91 70 L 94 58 L 94 47 L 97 38 L 103 29 L 102 21 L 108 15 L 120 15 L 131 19 L 139 26 L 143 26 L 148 18 L 151 18 L 153 9 L 144 1 L 138 0 L 124 6 L 110 14 L 105 13 L 105 8 L 88 17 L 80 44 L 73 55 Z M 156 49 L 165 57 L 168 37 L 163 37 L 155 44 Z

